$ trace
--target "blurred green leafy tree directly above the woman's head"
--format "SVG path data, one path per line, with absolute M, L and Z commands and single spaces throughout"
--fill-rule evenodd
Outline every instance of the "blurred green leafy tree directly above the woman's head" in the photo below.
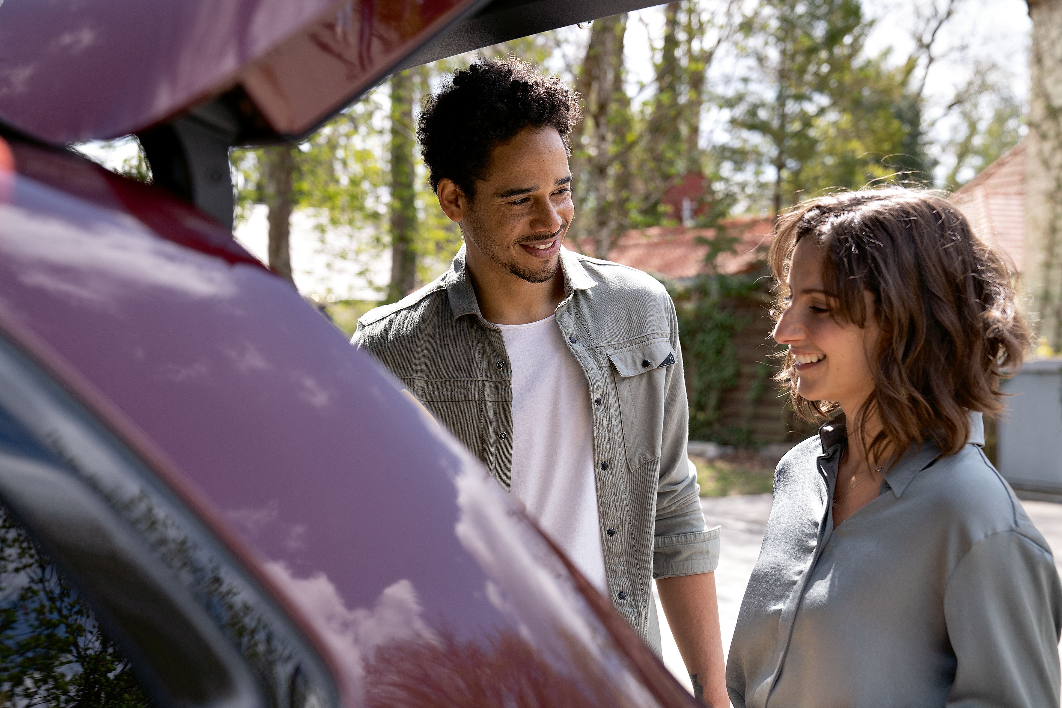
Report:
M 919 106 L 902 68 L 866 55 L 870 27 L 856 0 L 769 0 L 742 23 L 751 61 L 725 100 L 731 155 L 773 179 L 772 212 L 829 188 L 923 175 Z

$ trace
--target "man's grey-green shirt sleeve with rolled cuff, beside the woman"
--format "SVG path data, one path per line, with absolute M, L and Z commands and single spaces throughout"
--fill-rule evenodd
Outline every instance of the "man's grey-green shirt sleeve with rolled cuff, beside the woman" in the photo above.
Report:
M 673 305 L 670 318 L 675 363 L 668 367 L 667 373 L 661 471 L 656 488 L 653 577 L 657 579 L 712 572 L 719 563 L 719 528 L 705 529 L 697 468 L 686 453 L 689 410 L 679 343 L 679 320 Z

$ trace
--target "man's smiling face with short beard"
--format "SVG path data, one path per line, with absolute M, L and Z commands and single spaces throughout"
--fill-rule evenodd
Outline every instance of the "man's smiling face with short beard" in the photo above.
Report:
M 549 280 L 576 212 L 570 183 L 568 153 L 555 129 L 528 128 L 497 145 L 486 178 L 465 203 L 469 246 L 518 278 Z

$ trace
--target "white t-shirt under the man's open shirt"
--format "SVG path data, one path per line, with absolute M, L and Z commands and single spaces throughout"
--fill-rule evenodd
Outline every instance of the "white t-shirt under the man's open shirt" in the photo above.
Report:
M 510 491 L 586 579 L 606 591 L 586 376 L 552 316 L 498 327 L 513 373 Z

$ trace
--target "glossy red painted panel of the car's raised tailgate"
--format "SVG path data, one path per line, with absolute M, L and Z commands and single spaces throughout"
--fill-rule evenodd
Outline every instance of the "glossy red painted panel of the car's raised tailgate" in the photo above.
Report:
M 472 0 L 39 0 L 0 4 L 0 120 L 53 143 L 148 127 L 245 83 L 302 133 Z

